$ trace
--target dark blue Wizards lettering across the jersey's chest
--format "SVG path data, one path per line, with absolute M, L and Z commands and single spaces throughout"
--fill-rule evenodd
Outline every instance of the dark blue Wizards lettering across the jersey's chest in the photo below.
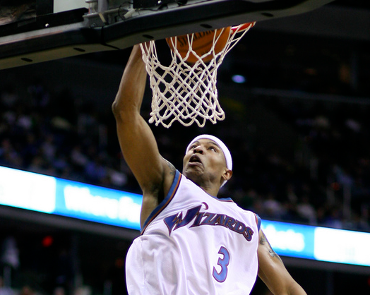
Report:
M 208 205 L 205 204 L 208 209 Z M 184 227 L 190 222 L 193 222 L 190 227 L 199 227 L 201 225 L 215 225 L 226 227 L 232 231 L 242 234 L 246 241 L 251 241 L 252 235 L 254 234 L 253 230 L 250 227 L 247 227 L 243 222 L 229 217 L 225 214 L 216 214 L 210 212 L 200 212 L 202 205 L 193 207 L 186 212 L 184 218 L 182 218 L 182 212 L 176 215 L 166 217 L 164 219 L 165 224 L 167 225 L 169 235 L 171 235 L 172 230 L 179 229 Z

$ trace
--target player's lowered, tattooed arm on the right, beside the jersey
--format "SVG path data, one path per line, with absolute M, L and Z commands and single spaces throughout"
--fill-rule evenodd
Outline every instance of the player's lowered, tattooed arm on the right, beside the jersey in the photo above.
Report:
M 262 229 L 259 231 L 258 277 L 274 295 L 306 295 L 287 271 L 279 255 L 273 251 Z

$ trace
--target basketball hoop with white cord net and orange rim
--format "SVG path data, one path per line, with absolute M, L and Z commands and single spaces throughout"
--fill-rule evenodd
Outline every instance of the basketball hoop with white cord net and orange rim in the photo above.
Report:
M 199 127 L 205 125 L 206 120 L 213 124 L 217 120 L 225 119 L 225 112 L 220 107 L 217 98 L 217 68 L 222 64 L 225 55 L 241 40 L 246 32 L 255 25 L 245 23 L 232 27 L 225 47 L 218 52 L 215 44 L 222 35 L 215 30 L 213 44 L 210 51 L 199 56 L 192 48 L 194 34 L 187 36 L 189 52 L 180 54 L 177 37 L 171 38 L 172 61 L 169 66 L 163 66 L 158 60 L 155 40 L 141 44 L 143 61 L 150 78 L 150 88 L 153 92 L 152 112 L 150 123 L 156 126 L 162 124 L 169 128 L 174 121 L 179 121 L 184 126 L 190 126 L 194 122 Z M 189 55 L 196 56 L 193 64 L 186 63 Z M 212 56 L 209 62 L 205 62 L 205 56 Z M 168 122 L 168 123 L 166 123 Z

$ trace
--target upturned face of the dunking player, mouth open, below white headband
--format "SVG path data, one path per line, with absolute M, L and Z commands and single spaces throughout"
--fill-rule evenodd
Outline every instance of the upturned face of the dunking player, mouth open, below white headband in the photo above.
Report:
M 202 186 L 205 183 L 222 183 L 227 169 L 225 155 L 213 140 L 197 140 L 184 157 L 183 174 Z

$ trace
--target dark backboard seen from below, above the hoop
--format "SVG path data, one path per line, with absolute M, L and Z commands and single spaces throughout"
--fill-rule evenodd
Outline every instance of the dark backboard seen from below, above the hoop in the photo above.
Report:
M 1 9 L 15 4 L 33 9 L 28 18 L 0 23 L 0 69 L 4 69 L 294 16 L 333 0 L 0 1 Z

